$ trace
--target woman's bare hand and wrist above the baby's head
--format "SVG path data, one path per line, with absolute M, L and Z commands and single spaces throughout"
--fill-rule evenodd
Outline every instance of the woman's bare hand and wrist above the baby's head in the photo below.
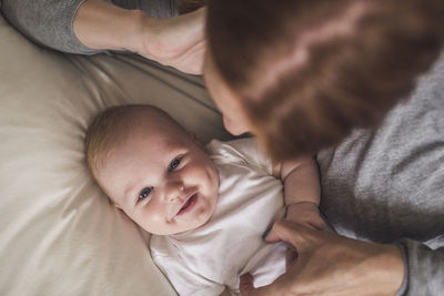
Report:
M 141 10 L 88 0 L 75 14 L 73 30 L 87 48 L 128 50 L 180 71 L 201 74 L 205 17 L 205 8 L 201 8 L 175 18 L 155 19 Z

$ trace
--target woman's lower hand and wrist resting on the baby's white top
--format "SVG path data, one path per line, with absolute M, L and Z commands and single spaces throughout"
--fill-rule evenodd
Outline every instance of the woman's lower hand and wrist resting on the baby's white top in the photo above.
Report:
M 242 276 L 242 295 L 394 295 L 402 285 L 404 263 L 396 246 L 364 243 L 287 221 L 276 222 L 265 239 L 286 242 L 297 258 L 269 286 L 254 288 L 252 277 Z

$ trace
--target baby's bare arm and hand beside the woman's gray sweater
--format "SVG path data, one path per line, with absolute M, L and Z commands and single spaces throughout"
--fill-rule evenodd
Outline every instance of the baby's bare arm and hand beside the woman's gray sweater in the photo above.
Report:
M 313 157 L 300 157 L 283 162 L 274 172 L 284 183 L 286 220 L 309 227 L 325 229 L 319 204 L 321 187 L 317 164 Z

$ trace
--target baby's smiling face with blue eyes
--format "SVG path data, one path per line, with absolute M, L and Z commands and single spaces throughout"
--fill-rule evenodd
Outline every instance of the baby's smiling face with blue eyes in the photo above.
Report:
M 196 228 L 219 195 L 214 164 L 184 132 L 140 126 L 113 149 L 97 178 L 118 207 L 152 234 Z

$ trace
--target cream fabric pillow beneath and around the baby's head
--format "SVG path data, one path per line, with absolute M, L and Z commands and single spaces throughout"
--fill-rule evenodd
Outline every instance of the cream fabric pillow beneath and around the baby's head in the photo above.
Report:
M 90 177 L 83 136 L 115 104 L 154 104 L 228 140 L 198 76 L 133 55 L 39 48 L 0 18 L 0 295 L 174 295 L 149 235 Z

